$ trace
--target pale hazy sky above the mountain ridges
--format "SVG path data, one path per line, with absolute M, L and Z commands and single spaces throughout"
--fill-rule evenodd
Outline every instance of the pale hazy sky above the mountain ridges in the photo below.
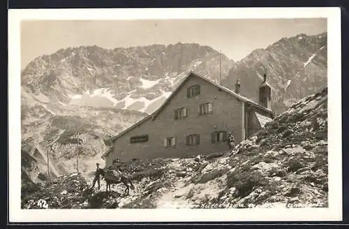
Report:
M 326 18 L 228 20 L 26 20 L 21 22 L 22 68 L 61 48 L 198 43 L 239 61 L 283 37 L 327 31 Z

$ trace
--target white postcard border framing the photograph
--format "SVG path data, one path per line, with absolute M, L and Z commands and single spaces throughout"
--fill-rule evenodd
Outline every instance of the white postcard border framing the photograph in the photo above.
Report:
M 329 207 L 299 209 L 21 209 L 20 21 L 252 19 L 327 17 Z M 8 11 L 8 130 L 10 222 L 341 221 L 340 8 L 138 8 Z

